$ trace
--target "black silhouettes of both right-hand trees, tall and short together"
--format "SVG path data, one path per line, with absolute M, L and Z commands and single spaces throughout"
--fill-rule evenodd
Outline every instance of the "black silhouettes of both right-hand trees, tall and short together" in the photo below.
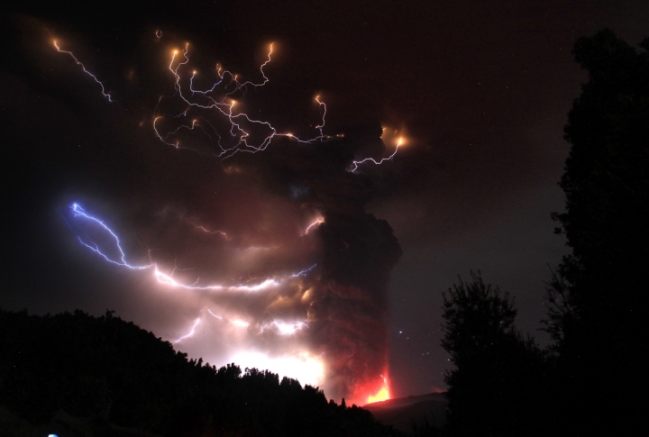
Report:
M 576 41 L 589 73 L 574 101 L 553 214 L 571 254 L 548 281 L 540 348 L 514 300 L 471 273 L 444 295 L 449 415 L 457 436 L 649 434 L 649 38 L 608 30 Z

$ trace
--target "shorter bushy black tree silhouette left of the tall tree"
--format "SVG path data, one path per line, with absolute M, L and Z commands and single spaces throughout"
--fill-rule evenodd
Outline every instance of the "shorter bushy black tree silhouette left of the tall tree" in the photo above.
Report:
M 514 300 L 479 274 L 443 296 L 442 345 L 455 369 L 449 386 L 452 435 L 539 435 L 544 431 L 544 353 L 516 330 Z

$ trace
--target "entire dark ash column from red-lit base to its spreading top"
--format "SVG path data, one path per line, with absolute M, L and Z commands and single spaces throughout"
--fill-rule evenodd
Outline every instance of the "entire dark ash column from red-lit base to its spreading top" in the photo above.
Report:
M 348 171 L 359 153 L 385 149 L 380 125 L 344 132 L 342 140 L 308 148 L 278 144 L 255 165 L 264 162 L 267 178 L 284 179 L 288 188 L 308 187 L 311 196 L 302 206 L 323 216 L 315 229 L 319 269 L 306 342 L 327 362 L 327 395 L 363 402 L 379 391 L 388 370 L 388 282 L 402 252 L 389 224 L 364 211 L 379 188 Z

